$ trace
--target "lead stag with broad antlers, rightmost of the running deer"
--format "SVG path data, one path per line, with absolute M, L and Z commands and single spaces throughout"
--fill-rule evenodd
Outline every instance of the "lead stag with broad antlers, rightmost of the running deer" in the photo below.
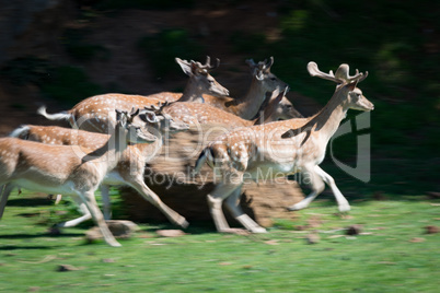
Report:
M 319 165 L 325 157 L 326 145 L 339 127 L 348 109 L 370 112 L 374 105 L 357 87 L 368 72 L 349 75 L 349 66 L 340 65 L 336 73 L 324 73 L 315 62 L 309 62 L 312 77 L 337 83 L 329 102 L 310 118 L 275 121 L 266 125 L 240 128 L 211 141 L 201 152 L 194 172 L 207 163 L 222 180 L 207 195 L 207 201 L 218 232 L 231 233 L 224 218 L 222 203 L 238 222 L 252 233 L 265 233 L 240 207 L 241 188 L 244 179 L 258 180 L 300 173 L 310 180 L 312 192 L 300 202 L 288 207 L 296 211 L 306 208 L 327 184 L 338 203 L 340 212 L 350 206 L 337 188 L 334 178 Z M 266 177 L 265 177 L 266 176 Z M 325 183 L 325 184 L 324 184 Z

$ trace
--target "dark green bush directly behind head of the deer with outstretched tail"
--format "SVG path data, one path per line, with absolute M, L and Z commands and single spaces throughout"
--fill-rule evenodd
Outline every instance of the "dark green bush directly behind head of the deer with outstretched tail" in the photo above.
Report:
M 174 60 L 175 57 L 186 60 L 206 58 L 202 56 L 204 46 L 182 28 L 163 30 L 153 36 L 146 36 L 140 39 L 139 48 L 158 78 L 176 71 L 178 65 Z

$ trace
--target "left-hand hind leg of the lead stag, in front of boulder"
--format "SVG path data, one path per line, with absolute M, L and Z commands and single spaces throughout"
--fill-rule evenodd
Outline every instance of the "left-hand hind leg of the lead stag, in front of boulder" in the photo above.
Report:
M 241 186 L 241 185 L 240 185 Z M 224 218 L 222 211 L 223 200 L 229 197 L 235 189 L 236 185 L 230 185 L 220 183 L 216 188 L 207 196 L 208 206 L 211 212 L 212 220 L 216 224 L 218 232 L 230 232 L 231 228 Z

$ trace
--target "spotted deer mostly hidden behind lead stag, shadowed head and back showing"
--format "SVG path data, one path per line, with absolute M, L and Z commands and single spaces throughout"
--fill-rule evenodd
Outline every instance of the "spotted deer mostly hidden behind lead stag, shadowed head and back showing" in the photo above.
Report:
M 220 124 L 228 126 L 228 128 L 246 127 L 278 120 L 279 116 L 277 109 L 282 98 L 285 98 L 288 90 L 288 86 L 285 89 L 283 92 L 275 90 L 273 96 L 269 99 L 269 103 L 264 108 L 260 116 L 253 120 L 243 119 L 229 112 L 224 112 L 220 108 L 207 104 L 173 103 L 169 106 L 166 106 L 164 108 L 164 112 L 167 113 L 170 116 L 189 125 Z M 152 107 L 153 109 L 155 108 L 155 106 Z

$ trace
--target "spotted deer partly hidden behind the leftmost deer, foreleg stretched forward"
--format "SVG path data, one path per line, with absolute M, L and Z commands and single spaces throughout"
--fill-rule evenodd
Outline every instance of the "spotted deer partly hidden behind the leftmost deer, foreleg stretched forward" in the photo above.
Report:
M 174 210 L 170 209 L 163 203 L 159 196 L 154 194 L 144 183 L 144 166 L 147 162 L 152 160 L 162 145 L 162 137 L 166 133 L 175 133 L 187 130 L 189 126 L 187 124 L 174 120 L 167 114 L 161 113 L 162 108 L 151 112 L 149 109 L 141 110 L 138 117 L 142 119 L 142 122 L 147 122 L 149 127 L 154 130 L 158 140 L 153 143 L 131 144 L 121 153 L 120 160 L 116 167 L 109 171 L 102 184 L 101 195 L 103 199 L 104 219 L 111 219 L 111 199 L 109 199 L 109 186 L 113 185 L 128 185 L 136 189 L 143 199 L 152 203 L 160 209 L 162 213 L 175 225 L 181 227 L 187 227 L 188 222 Z M 46 144 L 60 144 L 60 145 L 80 145 L 91 150 L 102 148 L 109 139 L 109 134 L 89 132 L 84 130 L 77 130 L 57 126 L 22 126 L 10 134 L 10 137 L 25 139 L 28 141 L 36 141 Z M 4 211 L 9 192 L 3 194 L 2 201 L 0 202 L 0 219 Z M 79 223 L 91 219 L 91 213 L 84 207 L 83 203 L 79 204 L 82 216 L 58 224 L 60 227 L 71 227 Z

